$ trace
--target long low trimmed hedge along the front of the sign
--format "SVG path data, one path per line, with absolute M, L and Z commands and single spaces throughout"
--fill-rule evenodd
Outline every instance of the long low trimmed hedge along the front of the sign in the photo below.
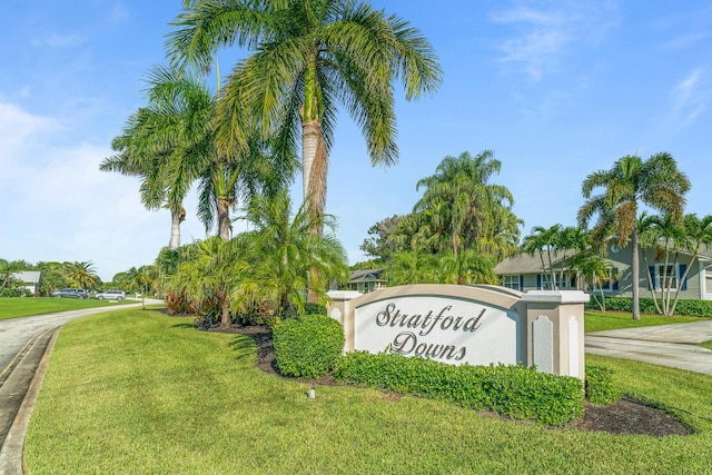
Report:
M 455 366 L 397 354 L 354 352 L 342 358 L 335 376 L 337 380 L 548 425 L 564 425 L 583 414 L 580 379 L 524 366 Z

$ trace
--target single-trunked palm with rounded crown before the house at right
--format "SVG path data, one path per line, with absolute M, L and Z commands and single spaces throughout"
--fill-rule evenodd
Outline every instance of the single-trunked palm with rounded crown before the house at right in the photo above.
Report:
M 602 194 L 592 196 L 599 188 L 603 188 Z M 655 154 L 647 160 L 634 155 L 625 156 L 615 161 L 610 170 L 595 171 L 583 181 L 582 192 L 586 201 L 578 209 L 578 224 L 586 228 L 589 221 L 599 216 L 593 227 L 594 245 L 602 248 L 610 236 L 615 236 L 621 247 L 631 241 L 634 320 L 641 317 L 639 208 L 645 205 L 679 221 L 689 189 L 690 180 L 678 169 L 672 155 L 666 152 Z

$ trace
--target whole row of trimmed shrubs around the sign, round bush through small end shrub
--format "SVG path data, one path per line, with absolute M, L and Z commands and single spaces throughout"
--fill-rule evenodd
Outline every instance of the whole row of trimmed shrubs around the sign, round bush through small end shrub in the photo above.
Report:
M 583 414 L 584 392 L 574 377 L 525 366 L 454 366 L 386 353 L 354 352 L 342 356 L 344 330 L 325 315 L 279 323 L 274 328 L 273 343 L 277 367 L 285 376 L 318 378 L 337 368 L 335 377 L 340 382 L 548 425 L 564 425 Z M 611 404 L 619 398 L 611 369 L 586 366 L 585 372 L 585 397 L 592 403 Z

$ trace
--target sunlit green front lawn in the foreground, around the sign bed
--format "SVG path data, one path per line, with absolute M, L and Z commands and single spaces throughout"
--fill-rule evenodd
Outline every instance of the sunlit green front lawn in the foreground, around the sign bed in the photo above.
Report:
M 251 339 L 117 310 L 60 333 L 24 446 L 31 474 L 709 473 L 712 378 L 587 356 L 692 436 L 552 429 L 256 368 Z

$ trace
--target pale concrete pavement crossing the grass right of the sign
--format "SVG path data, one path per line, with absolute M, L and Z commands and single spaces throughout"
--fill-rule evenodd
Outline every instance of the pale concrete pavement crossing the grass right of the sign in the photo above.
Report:
M 712 320 L 593 331 L 584 336 L 586 353 L 635 359 L 712 375 Z

